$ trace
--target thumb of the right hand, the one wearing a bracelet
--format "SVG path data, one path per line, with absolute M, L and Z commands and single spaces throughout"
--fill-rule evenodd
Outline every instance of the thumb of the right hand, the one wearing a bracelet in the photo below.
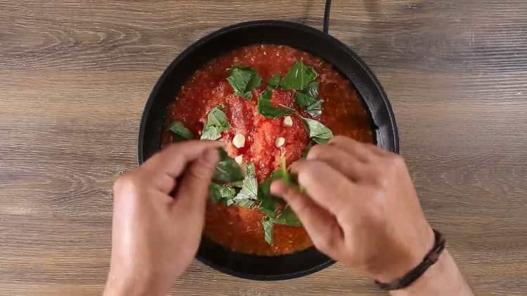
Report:
M 287 201 L 304 225 L 315 247 L 326 255 L 335 257 L 344 242 L 344 234 L 333 215 L 281 180 L 271 184 L 271 193 Z

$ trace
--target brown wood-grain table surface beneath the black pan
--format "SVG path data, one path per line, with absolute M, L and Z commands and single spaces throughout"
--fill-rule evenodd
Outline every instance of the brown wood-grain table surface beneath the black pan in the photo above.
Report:
M 254 19 L 321 28 L 323 1 L 0 1 L 0 295 L 100 295 L 112 182 L 178 53 Z M 377 74 L 422 206 L 478 295 L 527 293 L 527 1 L 333 1 Z M 285 282 L 200 262 L 174 295 L 383 295 L 337 264 Z

